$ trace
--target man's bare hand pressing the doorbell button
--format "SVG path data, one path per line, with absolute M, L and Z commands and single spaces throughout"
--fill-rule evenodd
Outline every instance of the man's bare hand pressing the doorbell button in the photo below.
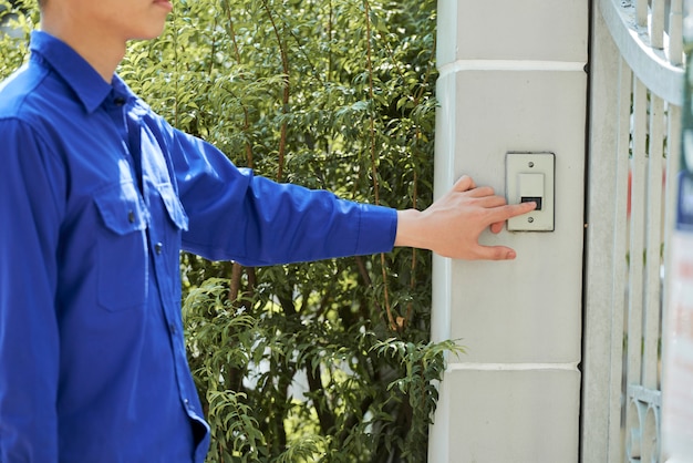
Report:
M 477 187 L 464 175 L 453 189 L 426 210 L 397 212 L 395 246 L 431 249 L 443 257 L 455 259 L 506 260 L 516 257 L 506 246 L 482 246 L 479 235 L 486 228 L 495 234 L 505 222 L 534 210 L 535 203 L 507 205 L 488 186 Z

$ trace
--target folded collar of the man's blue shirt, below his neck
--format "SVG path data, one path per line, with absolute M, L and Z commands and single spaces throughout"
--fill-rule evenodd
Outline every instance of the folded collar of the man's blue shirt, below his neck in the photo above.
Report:
M 70 45 L 46 32 L 32 32 L 30 48 L 65 81 L 89 113 L 99 107 L 114 90 L 114 86 L 105 82 L 96 70 Z M 126 97 L 132 96 L 130 89 L 120 78 L 114 76 L 114 83 L 116 81 L 116 91 L 125 93 Z

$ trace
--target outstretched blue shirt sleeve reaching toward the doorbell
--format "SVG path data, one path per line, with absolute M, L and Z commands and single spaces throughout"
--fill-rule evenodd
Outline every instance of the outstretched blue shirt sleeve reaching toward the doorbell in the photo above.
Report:
M 183 247 L 261 266 L 390 251 L 396 212 L 237 168 L 214 146 L 174 131 L 172 156 L 190 218 Z

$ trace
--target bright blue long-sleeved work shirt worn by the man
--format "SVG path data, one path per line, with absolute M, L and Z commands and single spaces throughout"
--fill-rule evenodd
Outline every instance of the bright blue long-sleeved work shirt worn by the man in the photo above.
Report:
M 0 462 L 203 462 L 179 251 L 390 250 L 396 213 L 254 176 L 60 40 L 0 86 Z

